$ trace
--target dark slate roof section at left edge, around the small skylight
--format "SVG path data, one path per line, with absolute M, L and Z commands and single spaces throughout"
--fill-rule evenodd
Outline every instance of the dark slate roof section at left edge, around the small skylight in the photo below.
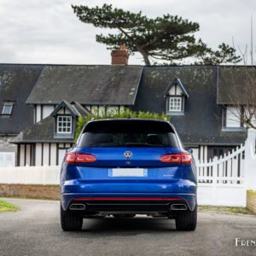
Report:
M 16 135 L 33 123 L 26 99 L 44 65 L 0 64 L 0 134 Z M 1 115 L 3 102 L 15 102 L 11 117 Z

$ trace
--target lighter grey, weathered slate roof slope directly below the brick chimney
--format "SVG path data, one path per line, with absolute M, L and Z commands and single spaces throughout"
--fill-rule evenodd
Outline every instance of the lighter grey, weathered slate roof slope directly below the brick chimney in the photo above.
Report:
M 133 105 L 143 67 L 48 65 L 27 103 Z

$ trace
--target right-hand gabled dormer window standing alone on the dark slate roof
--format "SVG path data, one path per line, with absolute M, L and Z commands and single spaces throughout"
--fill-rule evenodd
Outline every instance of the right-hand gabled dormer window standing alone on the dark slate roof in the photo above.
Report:
M 168 84 L 165 97 L 167 115 L 184 114 L 185 99 L 189 97 L 189 94 L 185 90 L 181 80 L 176 76 L 172 79 L 172 82 Z

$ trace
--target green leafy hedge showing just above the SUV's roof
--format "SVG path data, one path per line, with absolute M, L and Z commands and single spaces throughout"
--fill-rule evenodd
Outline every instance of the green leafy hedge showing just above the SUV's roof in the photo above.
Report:
M 79 116 L 79 121 L 77 123 L 75 142 L 77 141 L 80 131 L 83 129 L 84 125 L 90 121 L 91 119 L 124 119 L 124 118 L 137 118 L 137 119 L 168 119 L 165 113 L 161 115 L 159 113 L 150 113 L 143 111 L 131 111 L 129 108 L 124 108 L 122 110 L 118 110 L 117 108 L 112 109 L 111 111 L 99 111 L 98 109 L 94 109 L 93 113 L 90 113 L 87 116 Z

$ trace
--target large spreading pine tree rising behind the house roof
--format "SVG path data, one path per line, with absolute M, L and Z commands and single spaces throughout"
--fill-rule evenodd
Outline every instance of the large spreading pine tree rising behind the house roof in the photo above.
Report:
M 148 66 L 151 61 L 159 60 L 177 64 L 177 61 L 189 57 L 195 57 L 199 60 L 196 63 L 200 64 L 236 63 L 241 60 L 236 56 L 236 50 L 227 44 L 220 44 L 219 50 L 213 51 L 201 39 L 196 41 L 194 34 L 199 31 L 199 24 L 178 16 L 163 15 L 150 19 L 141 11 L 135 14 L 113 9 L 112 4 L 106 3 L 102 8 L 83 5 L 72 5 L 72 8 L 84 23 L 119 31 L 108 36 L 96 35 L 96 42 L 106 44 L 107 49 L 119 49 L 121 44 L 125 44 L 131 55 L 141 53 Z

